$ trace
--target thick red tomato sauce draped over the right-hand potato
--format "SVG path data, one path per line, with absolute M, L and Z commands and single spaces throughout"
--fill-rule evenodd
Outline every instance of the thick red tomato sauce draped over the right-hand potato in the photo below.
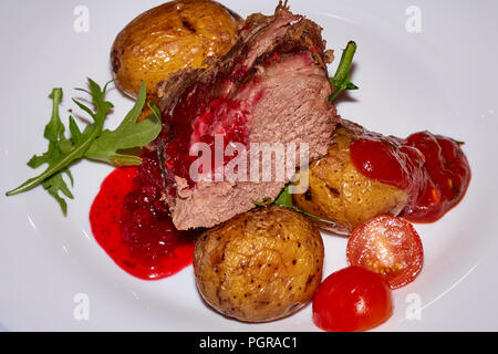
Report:
M 413 222 L 440 219 L 464 198 L 470 183 L 460 144 L 428 132 L 406 139 L 365 133 L 351 144 L 350 154 L 361 174 L 408 194 L 401 216 Z

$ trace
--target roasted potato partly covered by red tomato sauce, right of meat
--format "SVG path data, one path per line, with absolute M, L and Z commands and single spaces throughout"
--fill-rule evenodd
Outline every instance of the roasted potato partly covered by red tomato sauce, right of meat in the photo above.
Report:
M 364 129 L 343 121 L 334 133 L 329 154 L 300 174 L 309 174 L 309 189 L 293 195 L 298 208 L 338 222 L 352 231 L 380 215 L 398 215 L 408 195 L 360 174 L 350 158 L 350 145 Z M 299 181 L 298 181 L 299 183 Z

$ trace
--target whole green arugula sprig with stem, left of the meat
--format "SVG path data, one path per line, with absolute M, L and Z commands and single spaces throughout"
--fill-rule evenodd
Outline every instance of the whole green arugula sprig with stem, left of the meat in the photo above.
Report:
M 48 164 L 46 169 L 37 177 L 28 179 L 18 188 L 7 192 L 14 196 L 42 185 L 43 188 L 59 202 L 62 212 L 66 215 L 68 202 L 64 196 L 73 199 L 74 196 L 64 180 L 65 174 L 73 186 L 73 177 L 70 167 L 81 159 L 98 160 L 113 166 L 136 166 L 142 159 L 133 152 L 122 152 L 134 147 L 143 147 L 153 142 L 162 131 L 160 114 L 157 108 L 152 107 L 153 115 L 136 123 L 145 104 L 145 84 L 132 111 L 126 115 L 121 125 L 113 132 L 103 129 L 104 122 L 114 107 L 111 102 L 105 101 L 108 83 L 101 88 L 93 80 L 89 79 L 90 91 L 77 88 L 92 97 L 94 110 L 77 100 L 73 102 L 91 117 L 93 123 L 81 131 L 73 116 L 69 117 L 70 137 L 66 137 L 65 127 L 61 121 L 59 106 L 62 102 L 62 88 L 54 88 L 50 94 L 53 102 L 52 116 L 45 126 L 43 136 L 49 140 L 49 148 L 42 155 L 34 155 L 28 166 L 38 168 Z M 61 195 L 62 194 L 62 195 Z

